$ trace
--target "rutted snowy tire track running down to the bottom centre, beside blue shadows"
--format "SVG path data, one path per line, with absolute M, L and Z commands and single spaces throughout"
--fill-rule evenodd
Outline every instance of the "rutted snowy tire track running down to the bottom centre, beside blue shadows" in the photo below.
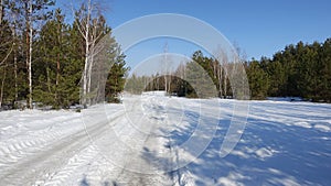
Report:
M 115 176 L 113 185 L 173 185 L 169 175 L 164 173 L 167 168 L 162 168 L 160 162 L 156 162 L 160 160 L 153 156 L 161 150 L 167 151 L 166 144 L 160 139 L 163 136 L 156 135 L 156 131 L 162 125 L 166 116 L 160 116 L 161 112 L 157 113 L 160 107 L 153 103 L 154 101 L 157 100 L 142 100 L 141 106 L 134 102 L 130 108 L 131 114 L 143 116 L 139 118 L 141 120 L 134 121 L 136 131 L 130 131 L 134 139 L 126 139 L 125 143 L 135 144 L 135 149 L 125 152 L 124 160 L 126 162 Z M 146 125 L 147 123 L 152 123 L 152 125 Z M 143 153 L 151 153 L 152 156 L 146 156 Z

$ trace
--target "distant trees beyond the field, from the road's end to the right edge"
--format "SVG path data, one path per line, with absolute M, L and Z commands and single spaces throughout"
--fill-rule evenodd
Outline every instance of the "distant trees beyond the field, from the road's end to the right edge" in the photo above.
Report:
M 241 61 L 247 74 L 250 99 L 301 97 L 311 101 L 331 101 L 331 39 L 323 43 L 291 44 L 271 58 Z M 203 73 L 197 73 L 194 64 L 199 64 L 209 78 L 202 78 Z M 229 70 L 234 69 L 234 65 L 226 57 L 216 59 L 196 51 L 189 63 L 179 65 L 167 75 L 134 74 L 127 79 L 125 89 L 134 94 L 166 90 L 169 95 L 189 98 L 234 98 L 229 80 Z

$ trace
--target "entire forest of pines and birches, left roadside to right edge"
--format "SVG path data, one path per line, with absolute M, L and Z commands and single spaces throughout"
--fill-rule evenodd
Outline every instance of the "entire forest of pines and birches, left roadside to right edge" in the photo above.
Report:
M 65 21 L 63 10 L 54 6 L 52 0 L 1 0 L 0 108 L 41 105 L 60 109 L 104 100 L 118 102 L 126 81 L 126 90 L 132 92 L 166 90 L 169 95 L 201 97 L 183 80 L 183 76 L 200 79 L 193 63 L 206 72 L 215 87 L 215 91 L 202 87 L 207 90 L 203 97 L 234 98 L 227 72 L 232 64 L 201 51 L 167 76 L 132 75 L 126 79 L 130 69 L 126 56 L 98 6 L 82 3 L 72 10 L 72 22 Z M 250 99 L 331 101 L 331 39 L 290 44 L 270 58 L 242 63 Z

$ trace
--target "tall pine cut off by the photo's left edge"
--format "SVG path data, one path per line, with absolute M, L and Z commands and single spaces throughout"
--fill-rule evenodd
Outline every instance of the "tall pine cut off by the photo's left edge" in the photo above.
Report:
M 2 100 L 10 107 L 25 94 L 25 80 L 22 79 L 24 65 L 21 63 L 21 42 L 18 35 L 21 25 L 20 10 L 17 1 L 1 1 L 0 23 L 0 102 Z M 14 86 L 13 86 L 14 85 Z M 20 97 L 20 98 L 19 98 Z M 0 103 L 1 105 L 1 103 Z

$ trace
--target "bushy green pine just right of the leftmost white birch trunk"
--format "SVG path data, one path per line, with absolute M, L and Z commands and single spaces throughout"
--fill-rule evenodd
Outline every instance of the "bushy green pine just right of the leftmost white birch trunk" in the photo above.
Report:
M 52 43 L 52 44 L 50 44 Z M 36 41 L 34 67 L 35 98 L 44 105 L 55 108 L 67 106 L 67 86 L 70 78 L 64 69 L 70 64 L 70 34 L 68 25 L 64 23 L 61 10 L 55 11 L 54 18 L 42 28 Z M 72 85 L 75 86 L 75 85 Z

